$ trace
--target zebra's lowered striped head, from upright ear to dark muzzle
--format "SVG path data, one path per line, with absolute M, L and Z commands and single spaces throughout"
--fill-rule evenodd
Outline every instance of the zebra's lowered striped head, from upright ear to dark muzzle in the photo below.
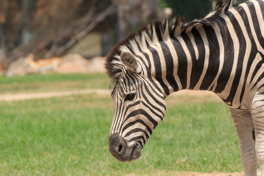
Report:
M 126 162 L 140 157 L 146 141 L 161 123 L 166 109 L 165 97 L 159 83 L 148 77 L 141 58 L 126 51 L 115 58 L 118 61 L 111 62 L 114 65 L 106 64 L 111 71 L 119 69 L 112 91 L 114 118 L 109 151 L 119 161 Z

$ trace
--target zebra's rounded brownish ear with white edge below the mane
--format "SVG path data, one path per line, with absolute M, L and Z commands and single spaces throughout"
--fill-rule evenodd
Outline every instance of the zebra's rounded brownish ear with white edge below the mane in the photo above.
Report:
M 142 70 L 141 65 L 136 58 L 126 51 L 122 51 L 120 55 L 121 62 L 132 72 L 140 73 Z

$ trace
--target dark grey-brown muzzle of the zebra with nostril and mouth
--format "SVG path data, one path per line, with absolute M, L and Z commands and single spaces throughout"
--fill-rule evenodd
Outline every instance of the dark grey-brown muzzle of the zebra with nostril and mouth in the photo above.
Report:
M 108 141 L 110 153 L 120 162 L 127 162 L 138 159 L 141 155 L 142 147 L 135 143 L 128 146 L 128 142 L 119 134 L 113 134 Z

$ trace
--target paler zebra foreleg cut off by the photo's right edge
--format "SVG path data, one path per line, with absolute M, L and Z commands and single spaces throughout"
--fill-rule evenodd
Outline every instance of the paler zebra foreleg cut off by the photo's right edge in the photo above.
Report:
M 256 154 L 261 169 L 261 175 L 264 175 L 264 88 L 258 90 L 253 97 L 251 114 L 253 117 Z

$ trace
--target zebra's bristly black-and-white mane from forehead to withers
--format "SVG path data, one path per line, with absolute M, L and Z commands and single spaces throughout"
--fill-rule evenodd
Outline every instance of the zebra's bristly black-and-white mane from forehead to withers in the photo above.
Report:
M 165 19 L 163 23 L 156 20 L 148 27 L 142 26 L 138 29 L 138 33 L 130 33 L 125 39 L 118 42 L 107 55 L 105 68 L 108 76 L 112 80 L 115 80 L 118 79 L 119 74 L 122 72 L 122 68 L 124 68 L 120 60 L 122 51 L 132 54 L 138 53 L 146 47 L 146 42 L 148 44 L 155 44 L 156 42 L 165 40 L 167 37 L 177 37 L 184 33 L 186 29 L 197 25 L 202 25 L 204 27 L 212 26 L 221 15 L 233 8 L 235 4 L 236 0 L 215 1 L 212 4 L 210 13 L 206 17 L 200 20 L 193 20 L 189 23 L 185 22 L 185 19 L 178 15 L 173 22 L 169 19 Z M 154 37 L 154 35 L 157 37 Z

